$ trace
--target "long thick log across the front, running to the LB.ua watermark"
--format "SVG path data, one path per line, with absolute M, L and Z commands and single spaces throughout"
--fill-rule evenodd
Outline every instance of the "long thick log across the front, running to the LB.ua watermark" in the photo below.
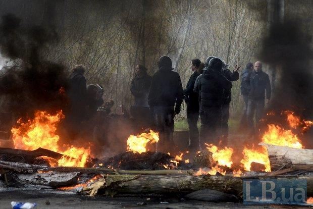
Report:
M 160 175 L 107 175 L 97 193 L 106 195 L 138 193 L 189 193 L 201 189 L 212 189 L 240 197 L 242 179 L 231 176 L 160 176 Z M 268 177 L 249 177 L 249 179 L 267 179 Z M 271 179 L 305 179 L 307 194 L 313 193 L 313 178 L 278 176 Z M 92 189 L 92 185 L 87 188 Z M 86 190 L 86 189 L 84 189 Z

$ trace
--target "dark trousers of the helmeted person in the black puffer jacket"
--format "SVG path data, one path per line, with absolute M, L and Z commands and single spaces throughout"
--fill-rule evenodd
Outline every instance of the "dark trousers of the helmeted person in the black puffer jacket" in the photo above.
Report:
M 200 112 L 201 129 L 200 129 L 200 145 L 204 143 L 213 143 L 218 145 L 219 138 L 217 130 L 222 124 L 222 108 L 221 107 L 204 107 Z

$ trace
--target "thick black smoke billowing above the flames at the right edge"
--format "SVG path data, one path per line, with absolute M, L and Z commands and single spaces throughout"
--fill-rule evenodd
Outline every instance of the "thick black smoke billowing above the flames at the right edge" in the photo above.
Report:
M 304 32 L 300 20 L 285 21 L 270 28 L 260 51 L 260 59 L 277 69 L 270 109 L 293 110 L 305 118 L 313 116 L 310 44 L 311 37 Z

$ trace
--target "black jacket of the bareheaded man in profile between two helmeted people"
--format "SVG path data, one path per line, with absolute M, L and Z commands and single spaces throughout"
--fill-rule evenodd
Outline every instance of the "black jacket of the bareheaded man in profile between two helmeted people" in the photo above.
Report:
M 199 73 L 197 71 L 194 71 L 194 73 L 190 76 L 188 83 L 186 85 L 186 89 L 184 89 L 184 95 L 185 95 L 185 101 L 187 105 L 197 107 L 199 106 L 198 101 L 198 93 L 193 91 L 194 83 L 196 78 L 199 76 Z

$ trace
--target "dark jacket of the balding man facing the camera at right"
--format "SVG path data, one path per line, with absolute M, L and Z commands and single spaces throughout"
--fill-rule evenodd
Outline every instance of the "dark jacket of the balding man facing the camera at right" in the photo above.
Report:
M 255 72 L 254 70 L 250 73 L 250 91 L 248 97 L 255 100 L 264 100 L 271 98 L 271 82 L 269 75 L 263 71 Z

